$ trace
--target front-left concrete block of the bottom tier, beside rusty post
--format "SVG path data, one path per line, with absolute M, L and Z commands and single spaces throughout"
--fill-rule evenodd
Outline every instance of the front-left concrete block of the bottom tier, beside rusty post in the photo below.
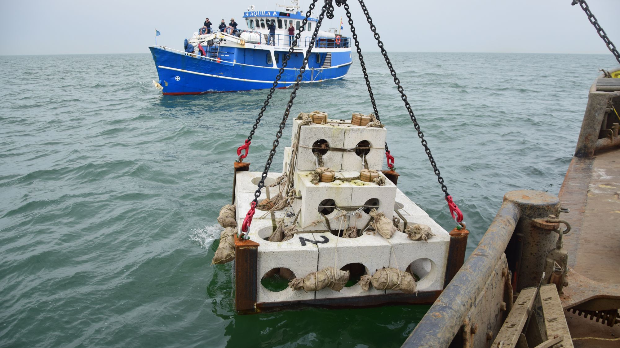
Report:
M 250 239 L 257 241 L 260 246 L 258 250 L 257 266 L 257 302 L 279 302 L 311 300 L 314 292 L 293 291 L 290 288 L 278 292 L 265 289 L 261 284 L 261 279 L 268 271 L 273 268 L 288 268 L 293 271 L 295 277 L 303 278 L 311 272 L 317 271 L 317 260 L 319 250 L 314 242 L 312 233 L 295 235 L 287 241 L 275 242 L 267 241 L 272 233 L 270 222 L 265 220 L 253 221 Z M 303 242 L 299 238 L 303 238 Z

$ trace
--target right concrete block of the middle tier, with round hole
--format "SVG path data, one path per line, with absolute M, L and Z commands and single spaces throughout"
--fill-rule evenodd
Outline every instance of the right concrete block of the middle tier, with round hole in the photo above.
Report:
M 359 174 L 359 172 L 347 173 Z M 379 176 L 384 175 L 379 173 Z M 353 180 L 351 181 L 351 185 L 353 186 L 353 193 L 351 195 L 352 206 L 363 206 L 368 201 L 378 199 L 379 207 L 377 208 L 377 211 L 385 214 L 387 219 L 392 219 L 392 215 L 394 214 L 394 196 L 396 196 L 397 191 L 396 185 L 394 185 L 392 181 L 389 181 L 386 178 L 386 184 L 384 186 L 379 186 L 376 183 L 366 183 L 361 180 Z M 368 209 L 368 212 L 370 212 L 370 209 Z M 350 222 L 358 228 L 363 228 L 369 220 L 370 214 L 363 211 L 360 218 L 351 217 Z

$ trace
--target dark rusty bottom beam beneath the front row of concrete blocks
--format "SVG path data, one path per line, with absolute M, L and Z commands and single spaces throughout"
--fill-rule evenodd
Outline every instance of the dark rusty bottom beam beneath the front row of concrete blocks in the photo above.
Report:
M 418 294 L 384 294 L 384 295 L 369 295 L 369 296 L 356 296 L 356 297 L 335 297 L 335 298 L 316 298 L 314 300 L 301 300 L 301 301 L 285 301 L 285 302 L 269 302 L 269 303 L 257 303 L 257 308 L 261 311 L 282 308 L 295 308 L 295 307 L 338 307 L 338 308 L 360 308 L 360 307 L 375 307 L 379 305 L 387 304 L 412 304 L 412 305 L 428 305 L 435 302 L 437 297 L 441 294 L 441 291 L 427 291 L 418 292 Z

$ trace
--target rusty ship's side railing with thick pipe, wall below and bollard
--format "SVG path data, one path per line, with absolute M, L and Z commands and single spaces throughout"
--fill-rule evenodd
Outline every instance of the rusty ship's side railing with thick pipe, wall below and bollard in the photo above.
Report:
M 452 279 L 446 276 L 448 285 L 402 347 L 448 347 L 453 340 L 454 346 L 488 344 L 510 311 L 513 289 L 541 283 L 545 265 L 538 258 L 557 241 L 547 217 L 559 216 L 560 209 L 559 199 L 542 191 L 505 194 L 476 250 Z M 476 331 L 482 334 L 474 336 Z M 482 344 L 472 343 L 479 339 Z

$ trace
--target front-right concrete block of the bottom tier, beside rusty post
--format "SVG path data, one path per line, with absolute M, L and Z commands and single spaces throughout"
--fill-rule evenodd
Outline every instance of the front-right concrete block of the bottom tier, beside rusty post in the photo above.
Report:
M 443 289 L 446 263 L 448 262 L 449 233 L 428 215 L 404 215 L 408 224 L 425 224 L 435 234 L 428 241 L 409 240 L 407 234 L 396 231 L 390 238 L 392 256 L 390 267 L 401 271 L 411 269 L 420 277 L 418 291 L 435 291 Z M 387 290 L 387 293 L 395 292 Z

